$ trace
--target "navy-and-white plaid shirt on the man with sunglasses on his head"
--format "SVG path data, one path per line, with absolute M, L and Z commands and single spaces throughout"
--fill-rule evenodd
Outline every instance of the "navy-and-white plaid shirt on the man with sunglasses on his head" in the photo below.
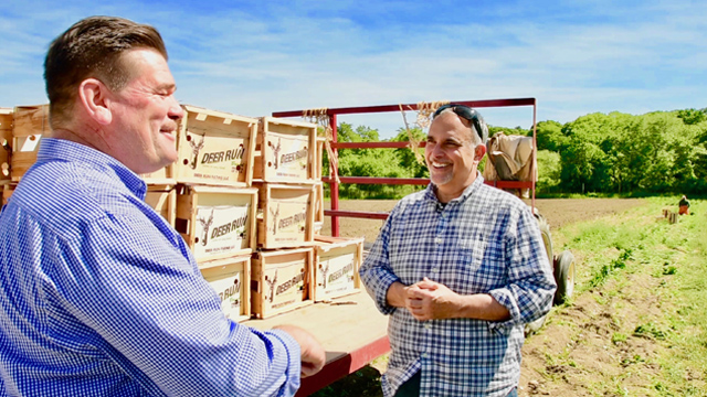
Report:
M 556 289 L 538 223 L 517 197 L 481 174 L 443 210 L 433 185 L 392 210 L 360 273 L 382 313 L 390 314 L 386 397 L 418 371 L 421 396 L 507 396 L 520 377 L 524 323 L 545 315 Z M 394 281 L 428 277 L 461 294 L 490 293 L 510 320 L 418 321 L 388 305 Z

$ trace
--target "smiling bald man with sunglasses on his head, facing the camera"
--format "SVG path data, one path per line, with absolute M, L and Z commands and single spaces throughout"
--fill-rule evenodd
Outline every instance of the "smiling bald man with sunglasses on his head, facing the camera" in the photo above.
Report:
M 386 397 L 517 396 L 524 325 L 557 287 L 528 205 L 477 171 L 487 137 L 474 109 L 434 112 L 431 183 L 397 204 L 360 269 L 390 314 Z

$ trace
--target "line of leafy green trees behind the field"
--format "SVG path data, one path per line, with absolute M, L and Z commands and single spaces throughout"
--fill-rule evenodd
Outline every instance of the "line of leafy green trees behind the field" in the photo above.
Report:
M 538 194 L 704 194 L 707 187 L 707 108 L 653 111 L 645 115 L 601 112 L 564 125 L 539 121 Z M 489 135 L 532 135 L 490 126 Z M 342 122 L 339 142 L 378 142 L 379 132 Z M 425 131 L 426 132 L 426 131 Z M 424 140 L 420 128 L 401 128 L 391 141 Z M 420 149 L 422 153 L 423 150 Z M 341 149 L 339 175 L 429 178 L 411 149 Z M 329 161 L 323 159 L 325 173 Z M 482 163 L 482 169 L 484 163 Z M 398 198 L 422 186 L 341 184 L 348 198 Z

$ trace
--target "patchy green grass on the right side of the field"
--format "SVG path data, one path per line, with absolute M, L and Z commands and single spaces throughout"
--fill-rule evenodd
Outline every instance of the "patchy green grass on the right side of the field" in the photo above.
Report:
M 630 210 L 616 219 L 567 226 L 555 236 L 584 260 L 578 266 L 576 294 L 602 289 L 613 280 L 615 290 L 595 297 L 600 304 L 608 296 L 626 287 L 626 275 L 646 272 L 658 278 L 653 291 L 662 313 L 644 314 L 632 334 L 614 332 L 619 345 L 629 337 L 643 337 L 658 344 L 659 355 L 624 358 L 622 366 L 651 361 L 659 375 L 645 385 L 650 396 L 707 396 L 707 202 L 692 200 L 692 215 L 679 216 L 676 224 L 662 219 L 662 208 L 674 207 L 676 197 L 646 198 L 647 205 Z M 555 357 L 557 360 L 557 357 Z M 621 379 L 604 379 L 592 385 L 594 395 L 626 395 Z M 630 394 L 633 395 L 633 394 Z

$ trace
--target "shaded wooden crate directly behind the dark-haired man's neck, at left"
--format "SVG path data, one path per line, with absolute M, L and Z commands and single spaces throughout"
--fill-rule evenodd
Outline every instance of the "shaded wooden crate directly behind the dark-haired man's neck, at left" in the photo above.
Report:
M 43 136 L 51 132 L 49 105 L 17 106 L 12 115 L 12 158 L 10 176 L 19 181 L 36 162 L 36 150 Z

